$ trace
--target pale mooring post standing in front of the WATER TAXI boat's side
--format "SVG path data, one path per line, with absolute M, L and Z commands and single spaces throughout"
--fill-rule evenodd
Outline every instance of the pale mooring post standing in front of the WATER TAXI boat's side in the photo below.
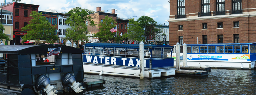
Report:
M 139 43 L 139 79 L 144 80 L 144 43 L 141 41 Z

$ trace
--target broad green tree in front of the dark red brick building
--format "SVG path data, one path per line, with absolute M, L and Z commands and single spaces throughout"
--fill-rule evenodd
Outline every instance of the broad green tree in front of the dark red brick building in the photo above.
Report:
M 29 21 L 30 24 L 21 28 L 22 31 L 27 31 L 27 34 L 22 37 L 22 42 L 26 40 L 46 40 L 53 44 L 58 39 L 58 36 L 55 35 L 57 25 L 52 26 L 46 17 L 42 16 L 42 13 L 32 11 L 30 17 L 33 18 Z

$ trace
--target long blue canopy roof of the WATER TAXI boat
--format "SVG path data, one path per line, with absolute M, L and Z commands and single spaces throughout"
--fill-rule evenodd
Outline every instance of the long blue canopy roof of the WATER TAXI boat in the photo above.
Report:
M 107 47 L 107 48 L 139 48 L 139 44 L 118 44 L 118 43 L 86 43 L 84 44 L 85 47 Z M 174 48 L 173 46 L 170 45 L 149 45 L 145 44 L 144 48 L 145 49 L 152 49 L 156 47 L 162 47 L 162 48 Z

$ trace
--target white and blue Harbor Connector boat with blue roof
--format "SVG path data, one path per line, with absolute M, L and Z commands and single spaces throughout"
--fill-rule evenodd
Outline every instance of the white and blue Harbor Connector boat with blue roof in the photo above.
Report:
M 198 66 L 200 63 L 201 67 L 254 69 L 255 45 L 256 43 L 187 44 L 187 65 Z M 172 57 L 176 57 L 176 53 Z

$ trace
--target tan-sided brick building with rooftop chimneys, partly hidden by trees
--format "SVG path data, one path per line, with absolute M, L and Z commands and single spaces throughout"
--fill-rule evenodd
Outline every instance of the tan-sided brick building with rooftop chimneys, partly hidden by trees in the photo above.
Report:
M 88 27 L 88 31 L 87 33 L 89 34 L 96 34 L 97 32 L 100 32 L 99 30 L 99 23 L 101 23 L 103 21 L 103 19 L 105 18 L 105 16 L 108 16 L 108 17 L 112 17 L 112 19 L 114 19 L 115 21 L 117 21 L 117 14 L 115 14 L 116 11 L 115 9 L 112 10 L 112 13 L 105 13 L 104 11 L 101 11 L 101 7 L 97 7 L 97 11 L 96 13 L 92 13 L 92 14 L 89 14 L 88 16 L 91 16 L 93 21 L 95 21 L 95 26 L 91 26 L 90 24 L 90 21 L 86 21 L 86 25 Z M 114 28 L 114 27 L 113 27 Z M 93 39 L 89 39 L 89 42 L 96 42 L 98 41 L 98 38 L 93 38 Z

